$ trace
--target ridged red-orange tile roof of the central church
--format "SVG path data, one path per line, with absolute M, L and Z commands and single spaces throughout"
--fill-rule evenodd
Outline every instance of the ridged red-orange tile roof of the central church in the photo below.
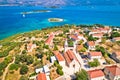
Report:
M 70 64 L 74 59 L 77 61 L 77 58 L 75 57 L 74 53 L 71 50 L 67 50 L 64 53 L 64 57 L 68 64 Z

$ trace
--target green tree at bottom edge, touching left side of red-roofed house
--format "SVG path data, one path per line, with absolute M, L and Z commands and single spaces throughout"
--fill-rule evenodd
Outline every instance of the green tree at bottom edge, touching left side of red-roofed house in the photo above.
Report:
M 88 80 L 88 74 L 84 69 L 76 73 L 76 80 Z

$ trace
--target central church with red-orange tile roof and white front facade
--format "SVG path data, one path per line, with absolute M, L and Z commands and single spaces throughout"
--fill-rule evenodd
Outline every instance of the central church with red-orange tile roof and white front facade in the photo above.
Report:
M 64 53 L 64 58 L 66 60 L 67 66 L 69 66 L 69 67 L 77 67 L 76 64 L 78 64 L 78 60 L 77 60 L 75 54 L 73 53 L 73 51 L 67 50 Z

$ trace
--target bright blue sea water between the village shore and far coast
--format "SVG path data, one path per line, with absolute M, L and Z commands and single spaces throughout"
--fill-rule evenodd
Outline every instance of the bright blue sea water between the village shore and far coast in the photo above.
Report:
M 47 13 L 20 14 L 24 11 L 50 10 Z M 64 22 L 50 23 L 48 18 L 63 18 Z M 64 24 L 104 24 L 120 26 L 120 6 L 67 6 L 58 9 L 37 7 L 0 7 L 0 39 L 50 26 Z

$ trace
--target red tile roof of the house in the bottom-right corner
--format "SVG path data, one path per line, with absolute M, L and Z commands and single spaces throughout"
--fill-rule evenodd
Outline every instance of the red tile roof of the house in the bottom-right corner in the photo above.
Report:
M 105 69 L 109 70 L 114 76 L 120 75 L 120 68 L 117 65 L 107 66 Z

